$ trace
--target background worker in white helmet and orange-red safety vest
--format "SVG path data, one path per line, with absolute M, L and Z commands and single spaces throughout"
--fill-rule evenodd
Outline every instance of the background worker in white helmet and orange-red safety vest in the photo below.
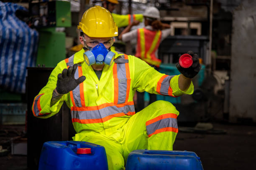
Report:
M 144 28 L 131 30 L 138 21 L 133 21 L 118 36 L 123 42 L 137 39 L 136 57 L 141 58 L 158 70 L 161 60 L 158 58 L 158 47 L 164 38 L 171 33 L 169 24 L 160 22 L 160 12 L 156 7 L 148 7 L 143 13 Z M 129 32 L 130 31 L 130 32 Z M 156 101 L 155 94 L 149 94 L 149 104 Z M 137 111 L 144 108 L 144 92 L 137 92 Z

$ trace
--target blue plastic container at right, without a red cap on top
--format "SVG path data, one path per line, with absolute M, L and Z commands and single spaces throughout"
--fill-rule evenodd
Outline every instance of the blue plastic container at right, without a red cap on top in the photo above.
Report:
M 134 150 L 125 170 L 203 170 L 194 152 L 169 150 Z

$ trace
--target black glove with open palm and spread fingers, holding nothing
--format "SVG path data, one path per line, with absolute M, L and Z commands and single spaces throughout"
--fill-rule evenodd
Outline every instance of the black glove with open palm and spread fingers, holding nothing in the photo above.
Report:
M 74 64 L 73 67 L 65 68 L 62 73 L 59 73 L 56 86 L 56 90 L 59 94 L 67 94 L 85 80 L 85 76 L 81 76 L 78 79 L 74 78 L 76 70 L 77 64 Z

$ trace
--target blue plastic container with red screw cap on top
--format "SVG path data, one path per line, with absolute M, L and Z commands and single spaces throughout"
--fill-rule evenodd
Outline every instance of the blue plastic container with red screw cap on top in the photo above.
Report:
M 108 170 L 106 151 L 103 146 L 88 142 L 46 142 L 38 170 Z

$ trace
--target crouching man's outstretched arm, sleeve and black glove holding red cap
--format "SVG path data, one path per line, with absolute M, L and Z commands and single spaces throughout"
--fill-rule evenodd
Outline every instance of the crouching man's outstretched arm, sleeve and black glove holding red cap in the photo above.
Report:
M 182 94 L 192 94 L 194 86 L 192 77 L 197 75 L 200 70 L 197 55 L 193 56 L 193 64 L 189 68 L 178 68 L 180 75 L 165 75 L 150 67 L 146 62 L 131 57 L 134 60 L 134 88 L 139 92 L 150 92 L 160 95 L 178 97 Z

